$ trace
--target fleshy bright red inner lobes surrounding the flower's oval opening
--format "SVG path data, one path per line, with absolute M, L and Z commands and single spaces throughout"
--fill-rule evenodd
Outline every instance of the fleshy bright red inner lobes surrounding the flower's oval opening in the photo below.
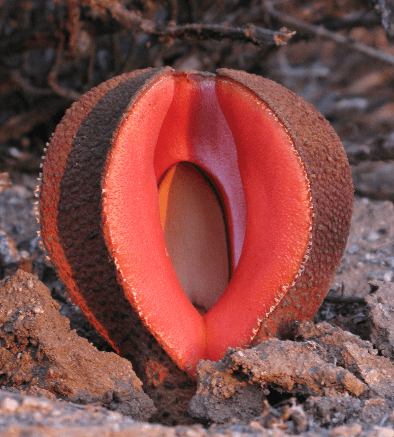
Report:
M 230 235 L 232 277 L 204 317 L 182 290 L 160 220 L 158 183 L 181 161 L 217 187 Z M 103 192 L 104 232 L 125 294 L 191 373 L 199 359 L 251 343 L 308 248 L 310 191 L 292 141 L 261 99 L 228 79 L 165 75 L 146 90 L 117 133 Z

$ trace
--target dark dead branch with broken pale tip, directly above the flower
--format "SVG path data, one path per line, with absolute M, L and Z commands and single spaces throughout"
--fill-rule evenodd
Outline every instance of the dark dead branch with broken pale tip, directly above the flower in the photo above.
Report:
M 84 4 L 94 9 L 108 10 L 111 15 L 128 29 L 138 28 L 141 31 L 166 37 L 166 38 L 197 38 L 222 40 L 229 38 L 237 41 L 252 42 L 260 44 L 286 44 L 295 32 L 283 28 L 279 31 L 264 29 L 253 24 L 243 27 L 229 26 L 222 24 L 156 24 L 152 20 L 140 17 L 135 12 L 129 11 L 116 0 L 84 0 Z

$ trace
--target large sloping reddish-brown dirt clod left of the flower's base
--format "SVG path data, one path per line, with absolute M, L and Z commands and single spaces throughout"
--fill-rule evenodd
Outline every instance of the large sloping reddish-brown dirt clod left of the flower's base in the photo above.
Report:
M 99 403 L 147 420 L 156 411 L 131 364 L 70 331 L 49 290 L 22 270 L 0 282 L 0 381 L 25 393 Z

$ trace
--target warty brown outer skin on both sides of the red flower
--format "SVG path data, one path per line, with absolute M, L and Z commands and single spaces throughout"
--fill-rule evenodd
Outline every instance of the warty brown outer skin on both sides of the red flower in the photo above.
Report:
M 126 73 L 74 103 L 51 140 L 40 201 L 42 235 L 60 278 L 99 333 L 131 360 L 162 414 L 176 398 L 177 409 L 181 411 L 183 403 L 186 410 L 195 383 L 171 362 L 118 285 L 102 235 L 100 184 L 113 132 L 125 113 L 144 90 L 171 72 L 164 67 Z M 295 321 L 313 318 L 343 254 L 353 188 L 339 138 L 312 105 L 260 76 L 227 69 L 217 74 L 244 85 L 274 111 L 291 135 L 311 188 L 310 257 L 281 304 L 262 322 L 256 344 L 268 336 L 291 336 Z M 166 398 L 167 404 L 159 398 Z

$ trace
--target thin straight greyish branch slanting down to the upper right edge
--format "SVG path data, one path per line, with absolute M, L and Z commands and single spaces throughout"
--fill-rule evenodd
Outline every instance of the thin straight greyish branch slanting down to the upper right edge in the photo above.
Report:
M 321 36 L 322 38 L 332 39 L 337 44 L 345 45 L 348 48 L 357 50 L 364 55 L 370 56 L 371 58 L 375 58 L 379 61 L 387 62 L 388 64 L 394 65 L 393 55 L 390 55 L 389 53 L 386 53 L 382 50 L 370 47 L 366 44 L 363 44 L 362 42 L 355 41 L 348 36 L 328 31 L 323 26 L 316 26 L 313 24 L 305 23 L 304 21 L 298 20 L 291 15 L 280 12 L 273 7 L 272 1 L 264 1 L 263 8 L 271 17 L 274 17 L 283 23 L 291 25 L 292 27 L 301 29 L 310 34 Z

